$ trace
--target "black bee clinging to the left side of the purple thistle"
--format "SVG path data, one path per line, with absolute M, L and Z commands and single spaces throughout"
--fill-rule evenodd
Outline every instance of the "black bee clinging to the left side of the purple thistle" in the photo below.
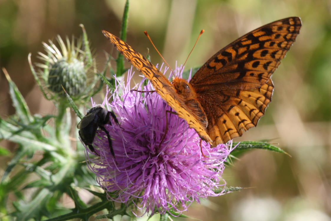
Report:
M 110 121 L 109 116 L 112 116 L 115 123 L 118 124 L 118 120 L 117 120 L 115 114 L 112 111 L 106 110 L 106 108 L 103 105 L 98 104 L 95 107 L 92 107 L 87 112 L 86 116 L 83 117 L 83 119 L 77 125 L 77 129 L 79 129 L 78 134 L 79 134 L 80 139 L 94 153 L 96 153 L 96 152 L 92 146 L 92 142 L 97 133 L 97 129 L 99 127 L 101 130 L 103 130 L 106 133 L 107 138 L 108 138 L 110 152 L 112 153 L 113 157 L 115 158 L 115 153 L 114 153 L 113 145 L 112 145 L 112 139 L 110 138 L 109 132 L 104 127 L 106 124 L 112 125 L 112 122 Z

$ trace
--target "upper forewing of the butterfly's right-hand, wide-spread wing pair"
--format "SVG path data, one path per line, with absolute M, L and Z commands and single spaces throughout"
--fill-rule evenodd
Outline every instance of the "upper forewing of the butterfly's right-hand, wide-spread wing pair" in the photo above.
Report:
M 300 27 L 300 18 L 291 17 L 245 34 L 211 57 L 190 83 L 198 91 L 260 87 L 276 70 Z

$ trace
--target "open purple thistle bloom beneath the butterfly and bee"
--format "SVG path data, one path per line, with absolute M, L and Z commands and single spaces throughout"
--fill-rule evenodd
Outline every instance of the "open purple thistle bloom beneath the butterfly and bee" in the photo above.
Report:
M 175 73 L 179 70 L 176 68 Z M 156 92 L 130 91 L 132 75 L 131 68 L 126 83 L 117 80 L 113 101 L 109 103 L 106 96 L 103 102 L 119 121 L 119 125 L 105 126 L 112 137 L 116 161 L 101 130 L 93 143 L 100 157 L 90 157 L 93 152 L 86 148 L 88 165 L 108 198 L 133 203 L 145 212 L 164 214 L 185 211 L 200 197 L 222 194 L 223 191 L 216 194 L 213 190 L 225 188 L 221 175 L 231 145 L 210 148 L 202 142 L 208 156 L 204 157 L 198 134 L 174 114 L 167 116 L 168 131 L 162 141 L 166 110 L 171 108 Z M 150 82 L 144 87 L 143 82 L 138 88 L 154 90 Z

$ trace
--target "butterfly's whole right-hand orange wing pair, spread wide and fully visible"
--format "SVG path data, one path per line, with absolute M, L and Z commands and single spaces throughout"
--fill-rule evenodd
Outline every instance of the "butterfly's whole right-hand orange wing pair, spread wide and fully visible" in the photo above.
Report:
M 257 28 L 211 57 L 190 84 L 198 94 L 213 146 L 257 125 L 271 101 L 270 79 L 301 28 L 291 17 Z

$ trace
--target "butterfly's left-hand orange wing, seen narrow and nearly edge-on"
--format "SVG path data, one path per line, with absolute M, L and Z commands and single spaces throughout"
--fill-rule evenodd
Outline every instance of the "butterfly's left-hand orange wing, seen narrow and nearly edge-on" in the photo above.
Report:
M 178 116 L 186 120 L 189 127 L 194 128 L 203 140 L 212 143 L 212 139 L 207 134 L 206 127 L 197 120 L 197 114 L 193 113 L 185 105 L 170 81 L 151 62 L 134 50 L 130 45 L 108 31 L 102 30 L 102 33 L 135 68 L 152 82 L 155 90 L 168 103 L 168 105 L 177 112 Z

